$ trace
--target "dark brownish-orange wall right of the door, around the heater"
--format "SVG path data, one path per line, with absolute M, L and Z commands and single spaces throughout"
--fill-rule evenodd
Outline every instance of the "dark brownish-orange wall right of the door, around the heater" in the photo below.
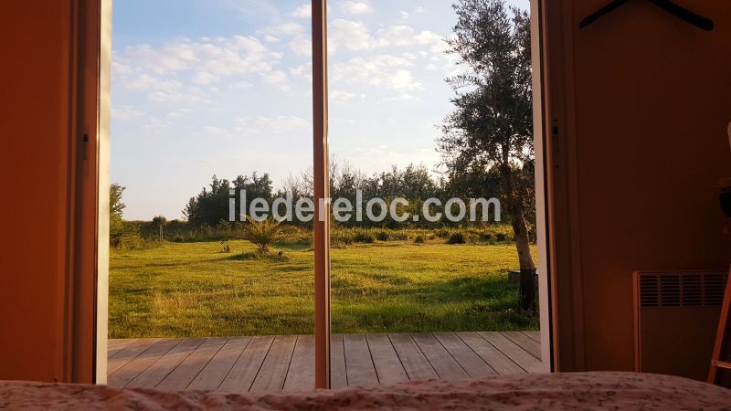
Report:
M 566 52 L 566 85 L 550 92 L 567 101 L 584 364 L 630 370 L 632 271 L 731 262 L 714 186 L 731 176 L 731 2 L 677 1 L 714 19 L 710 33 L 639 1 L 578 29 L 606 3 L 565 0 L 548 16 Z

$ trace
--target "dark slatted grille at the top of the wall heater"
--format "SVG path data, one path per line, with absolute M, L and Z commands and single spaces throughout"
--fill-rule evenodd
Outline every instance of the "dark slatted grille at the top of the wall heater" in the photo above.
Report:
M 725 272 L 640 273 L 641 307 L 720 307 Z

